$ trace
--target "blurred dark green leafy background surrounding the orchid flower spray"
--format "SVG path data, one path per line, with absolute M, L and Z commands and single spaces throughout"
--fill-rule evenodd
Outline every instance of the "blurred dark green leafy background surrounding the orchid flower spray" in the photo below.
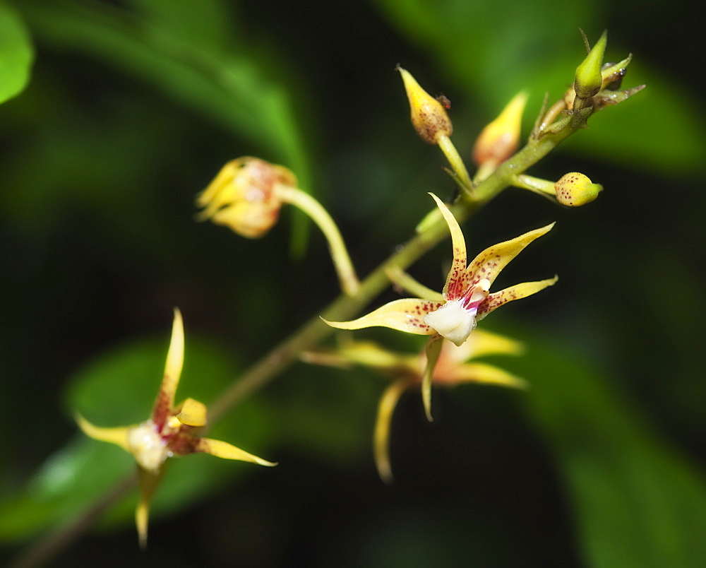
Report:
M 647 89 L 530 172 L 580 171 L 603 194 L 573 211 L 510 189 L 465 226 L 477 252 L 557 221 L 500 284 L 558 273 L 558 285 L 483 322 L 527 344 L 493 362 L 530 391 L 436 391 L 432 425 L 410 392 L 386 487 L 371 451 L 385 379 L 294 365 L 213 430 L 280 466 L 176 461 L 147 552 L 132 492 L 48 562 L 705 564 L 706 139 L 690 13 L 678 1 L 2 1 L 0 87 L 13 54 L 35 51 L 27 88 L 0 107 L 2 558 L 37 550 L 132 471 L 71 414 L 144 420 L 172 307 L 186 322 L 179 395 L 208 403 L 337 294 L 325 242 L 291 211 L 256 241 L 195 222 L 194 196 L 223 163 L 291 167 L 365 274 L 429 211 L 427 191 L 453 194 L 441 153 L 409 125 L 395 64 L 450 98 L 469 156 L 522 88 L 529 131 L 544 92 L 573 79 L 578 28 L 592 41 L 608 28 L 606 58 L 632 52 L 624 84 Z M 438 288 L 449 256 L 443 243 L 412 273 Z

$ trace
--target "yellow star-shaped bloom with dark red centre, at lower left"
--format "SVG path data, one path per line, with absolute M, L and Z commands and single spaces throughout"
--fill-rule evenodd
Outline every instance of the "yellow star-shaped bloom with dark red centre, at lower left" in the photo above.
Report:
M 147 526 L 150 500 L 164 473 L 164 464 L 172 456 L 186 456 L 201 452 L 219 458 L 237 459 L 259 463 L 261 466 L 277 464 L 253 456 L 227 442 L 203 438 L 196 429 L 206 425 L 206 407 L 203 403 L 186 398 L 174 406 L 181 367 L 184 362 L 184 324 L 181 312 L 174 309 L 172 341 L 169 343 L 164 379 L 157 394 L 152 417 L 141 424 L 116 428 L 102 428 L 92 425 L 77 414 L 76 422 L 86 435 L 117 444 L 130 452 L 138 463 L 140 482 L 140 502 L 136 511 L 136 523 L 140 546 L 147 544 Z

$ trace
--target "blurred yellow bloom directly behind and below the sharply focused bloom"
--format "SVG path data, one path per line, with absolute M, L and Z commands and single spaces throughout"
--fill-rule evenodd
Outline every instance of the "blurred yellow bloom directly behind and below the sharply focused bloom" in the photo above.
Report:
M 499 367 L 481 362 L 467 362 L 483 355 L 518 355 L 522 345 L 510 338 L 477 330 L 457 347 L 450 341 L 443 341 L 432 381 L 438 386 L 455 386 L 462 383 L 484 383 L 499 386 L 525 388 L 525 381 Z M 362 365 L 393 378 L 393 382 L 383 391 L 378 403 L 378 415 L 373 434 L 375 464 L 385 483 L 393 480 L 390 466 L 390 424 L 393 413 L 402 393 L 419 386 L 424 377 L 426 357 L 424 354 L 393 353 L 369 341 L 349 341 L 335 350 L 316 350 L 304 353 L 306 362 L 333 367 Z

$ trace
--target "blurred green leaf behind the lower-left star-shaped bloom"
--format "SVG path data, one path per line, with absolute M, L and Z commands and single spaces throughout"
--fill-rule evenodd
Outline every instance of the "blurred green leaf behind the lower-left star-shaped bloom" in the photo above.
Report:
M 187 396 L 208 403 L 234 379 L 234 367 L 221 350 L 189 336 L 188 328 L 186 333 L 177 403 Z M 134 341 L 90 362 L 71 381 L 67 412 L 78 410 L 96 425 L 107 427 L 146 420 L 162 380 L 167 343 L 168 337 Z M 269 438 L 268 417 L 261 401 L 251 397 L 208 435 L 261 455 L 264 440 Z M 186 507 L 260 469 L 266 468 L 208 455 L 175 458 L 155 494 L 150 519 Z M 134 471 L 135 461 L 126 451 L 79 432 L 47 458 L 24 491 L 0 505 L 0 542 L 23 540 L 75 518 Z M 137 491 L 133 490 L 109 509 L 105 522 L 132 523 L 136 503 Z

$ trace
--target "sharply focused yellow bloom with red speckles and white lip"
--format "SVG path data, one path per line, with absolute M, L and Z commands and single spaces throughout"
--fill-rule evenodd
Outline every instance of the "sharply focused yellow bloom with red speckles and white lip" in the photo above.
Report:
M 466 244 L 453 214 L 438 197 L 430 194 L 448 224 L 453 244 L 453 263 L 443 287 L 442 299 L 406 298 L 395 300 L 353 321 L 326 321 L 339 329 L 382 326 L 407 333 L 431 336 L 427 344 L 427 366 L 421 385 L 424 410 L 431 420 L 431 376 L 441 350 L 441 337 L 463 345 L 480 321 L 493 310 L 512 300 L 530 296 L 556 283 L 557 277 L 525 282 L 491 292 L 490 287 L 507 264 L 530 242 L 554 226 L 526 232 L 509 241 L 494 244 L 466 266 Z

